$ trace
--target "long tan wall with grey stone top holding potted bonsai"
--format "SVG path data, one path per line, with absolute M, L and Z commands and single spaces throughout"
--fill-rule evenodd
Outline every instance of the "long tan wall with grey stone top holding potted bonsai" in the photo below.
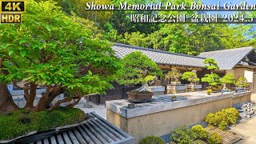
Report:
M 106 119 L 125 130 L 138 143 L 149 135 L 158 137 L 170 134 L 180 126 L 191 126 L 204 120 L 207 114 L 250 101 L 250 92 L 220 94 L 181 102 L 138 106 L 114 106 L 106 102 Z

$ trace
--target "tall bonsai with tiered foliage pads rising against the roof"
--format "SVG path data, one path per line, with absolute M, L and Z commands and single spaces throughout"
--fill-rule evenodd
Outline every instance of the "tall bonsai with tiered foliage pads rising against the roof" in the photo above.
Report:
M 202 82 L 208 82 L 209 86 L 207 89 L 218 90 L 219 85 L 221 84 L 220 78 L 218 74 L 214 74 L 212 70 L 218 70 L 218 63 L 215 62 L 214 58 L 206 58 L 203 61 L 206 64 L 206 69 L 210 70 L 210 74 L 205 74 L 203 78 L 201 78 Z

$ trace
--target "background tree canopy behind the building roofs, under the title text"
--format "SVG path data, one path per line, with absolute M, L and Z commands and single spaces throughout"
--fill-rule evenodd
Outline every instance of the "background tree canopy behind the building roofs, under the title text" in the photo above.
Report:
M 39 0 L 37 0 L 39 1 Z M 142 46 L 150 49 L 166 50 L 174 53 L 198 55 L 201 52 L 226 50 L 243 46 L 255 46 L 255 27 L 248 24 L 188 24 L 188 23 L 136 23 L 130 22 L 131 14 L 137 11 L 86 11 L 88 0 L 54 0 L 66 14 L 77 14 L 89 19 L 101 30 L 102 37 L 110 42 L 121 42 L 133 46 Z M 120 2 L 129 4 L 146 4 L 144 0 L 98 0 L 95 4 L 114 4 Z M 182 0 L 173 0 L 181 4 Z M 194 0 L 186 1 L 186 5 Z M 200 3 L 202 1 L 198 1 Z M 74 12 L 74 13 L 72 13 Z M 177 11 L 140 11 L 140 14 L 194 14 L 194 12 Z M 255 13 L 251 12 L 254 16 Z

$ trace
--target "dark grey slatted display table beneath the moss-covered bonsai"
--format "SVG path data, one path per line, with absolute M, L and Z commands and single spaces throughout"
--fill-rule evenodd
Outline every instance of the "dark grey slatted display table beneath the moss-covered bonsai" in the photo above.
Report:
M 118 129 L 110 122 L 98 116 L 98 114 L 89 113 L 92 119 L 82 123 L 79 126 L 67 130 L 59 130 L 55 133 L 34 134 L 26 138 L 18 139 L 11 143 L 51 143 L 51 144 L 133 144 L 134 138 Z

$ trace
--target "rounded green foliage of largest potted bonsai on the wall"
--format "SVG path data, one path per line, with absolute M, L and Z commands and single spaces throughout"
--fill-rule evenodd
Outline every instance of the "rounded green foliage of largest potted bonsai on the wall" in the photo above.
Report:
M 122 58 L 122 63 L 122 75 L 118 78 L 120 84 L 146 84 L 154 76 L 162 76 L 158 65 L 140 51 L 127 54 Z

